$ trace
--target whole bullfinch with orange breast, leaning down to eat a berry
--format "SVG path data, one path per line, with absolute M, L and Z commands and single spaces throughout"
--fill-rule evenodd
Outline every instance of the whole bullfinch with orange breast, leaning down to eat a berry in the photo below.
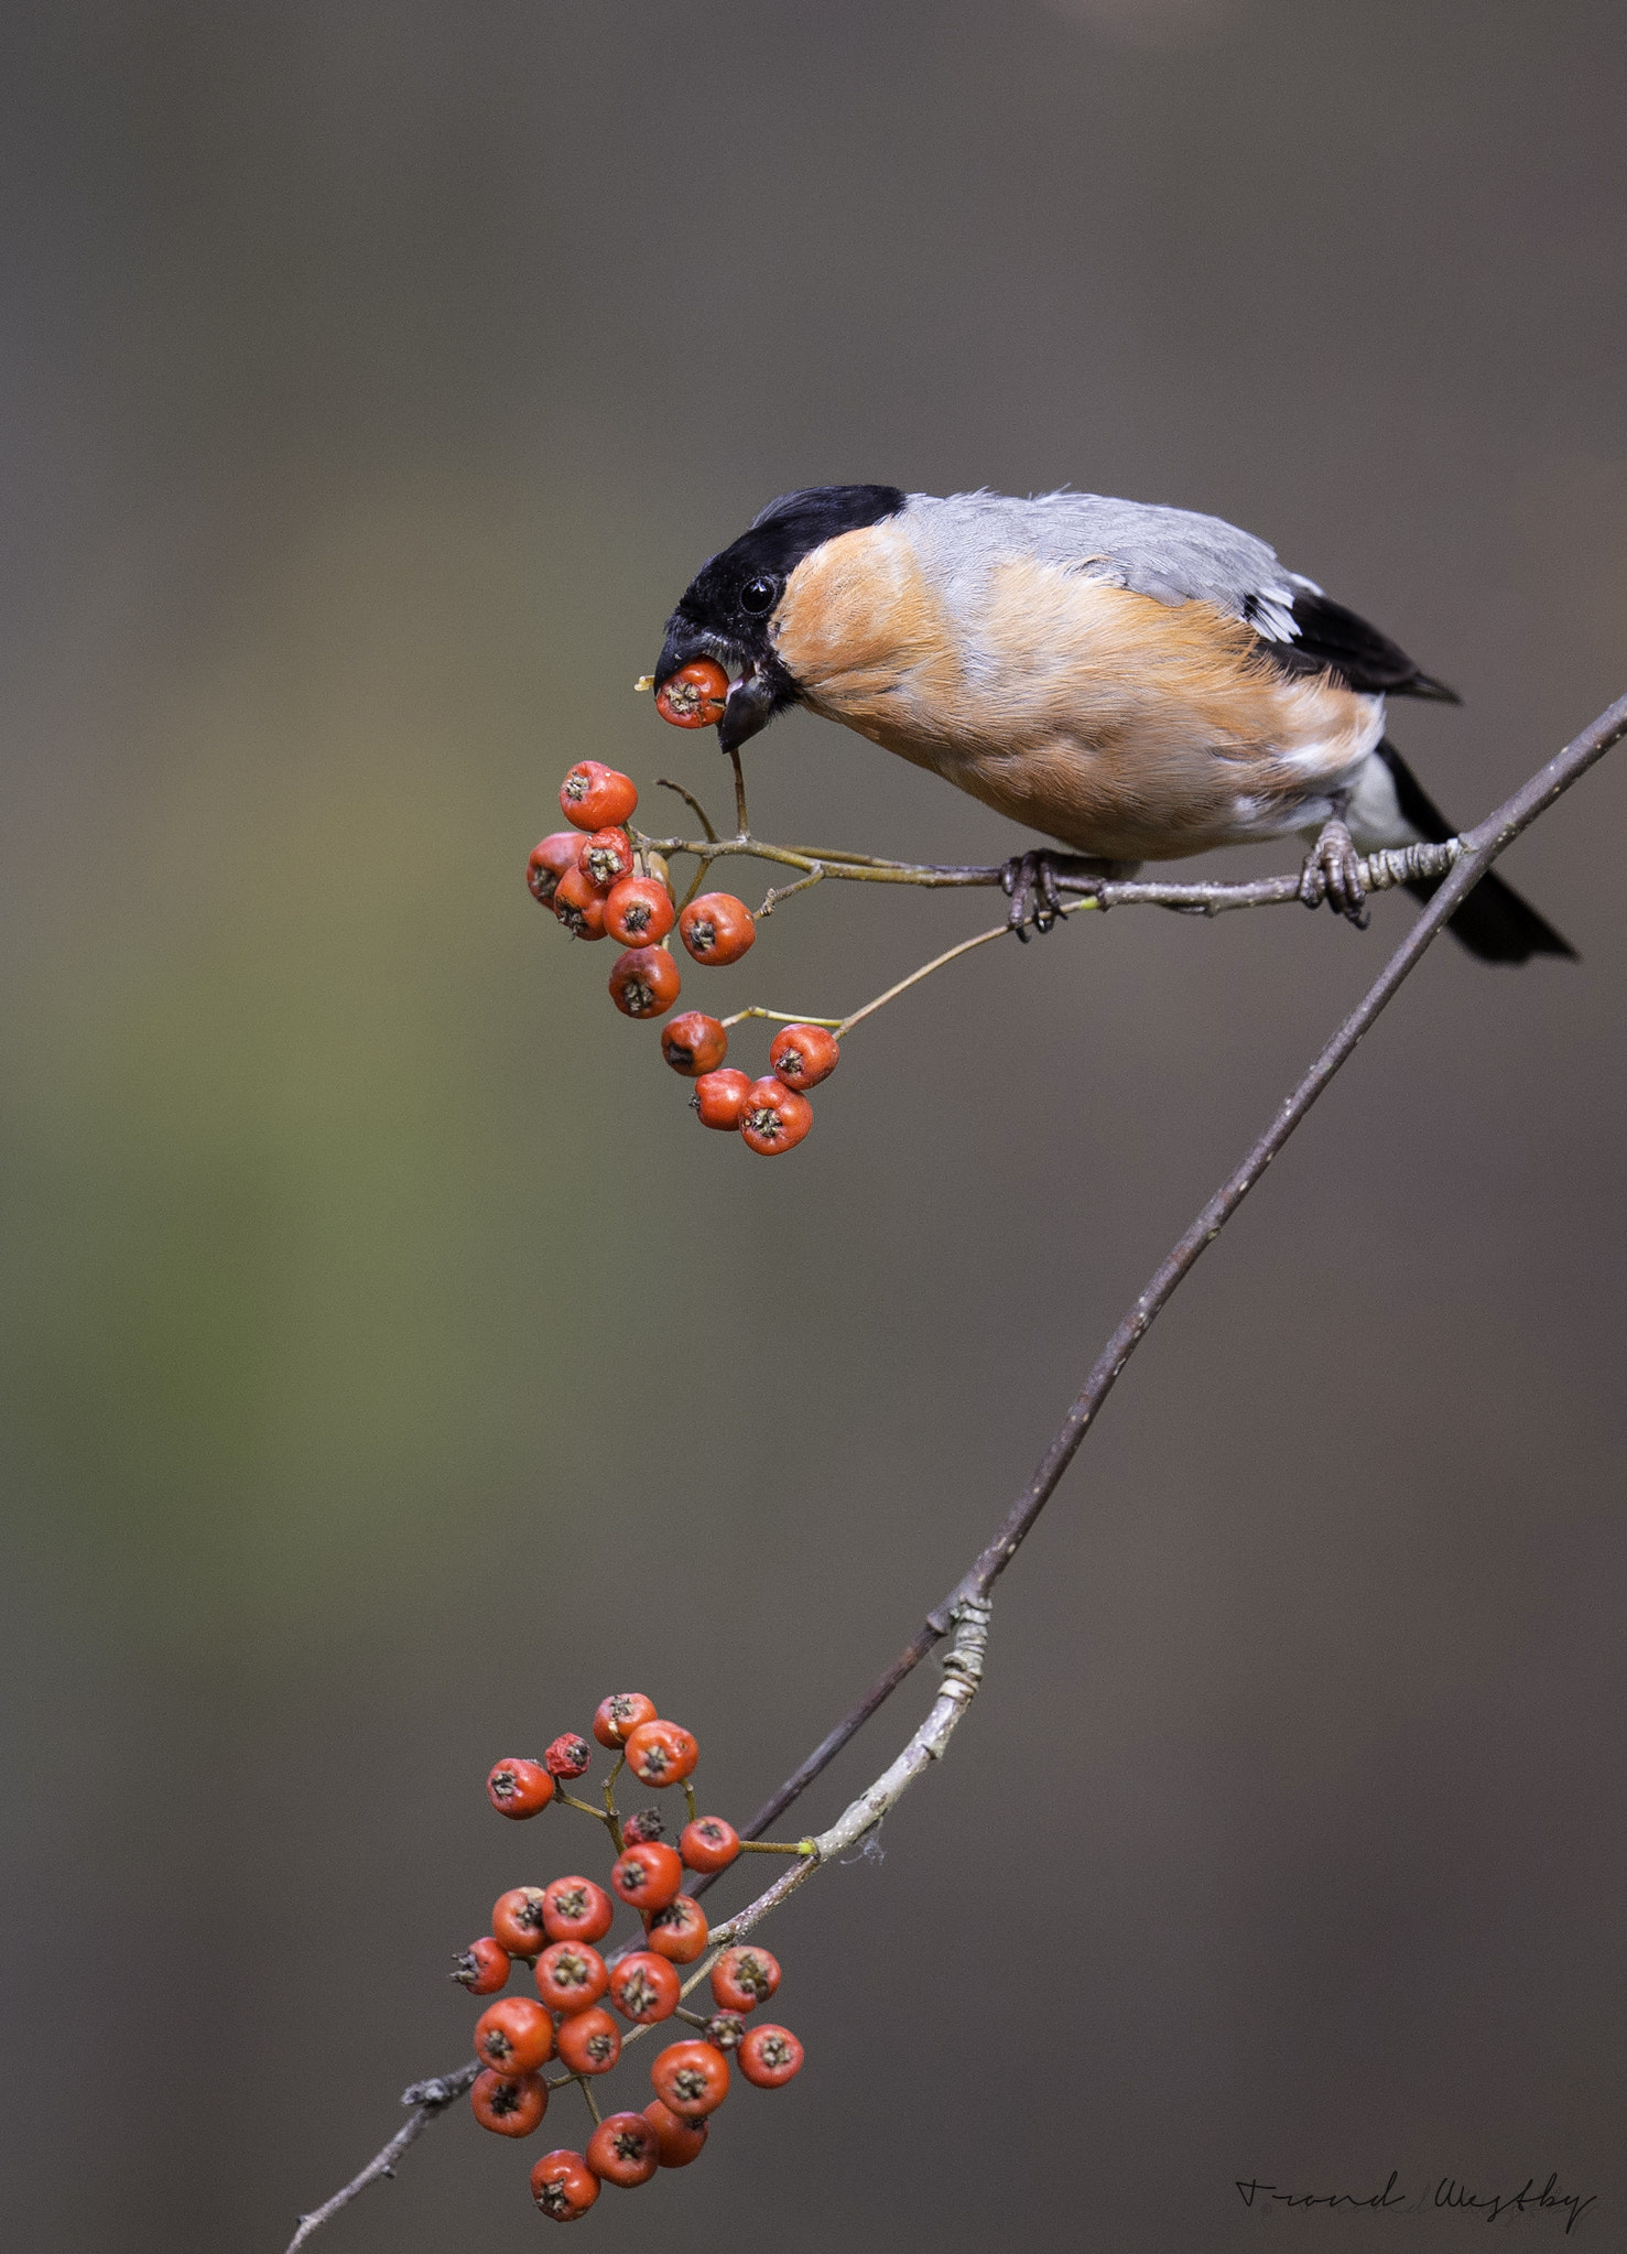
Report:
M 723 751 L 804 706 L 1052 838 L 1005 866 L 1019 935 L 1057 875 L 1280 836 L 1309 841 L 1300 897 L 1363 924 L 1359 854 L 1456 834 L 1386 735 L 1390 696 L 1456 692 L 1194 509 L 802 487 L 694 575 L 656 692 L 699 658 L 730 674 Z M 1494 872 L 1449 929 L 1485 962 L 1575 956 Z

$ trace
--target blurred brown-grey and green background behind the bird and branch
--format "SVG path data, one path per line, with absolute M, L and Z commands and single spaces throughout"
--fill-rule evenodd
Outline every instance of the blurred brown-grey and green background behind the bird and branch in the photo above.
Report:
M 1073 482 L 1456 683 L 1395 733 L 1478 818 L 1627 687 L 1627 18 L 14 0 L 5 50 L 5 2211 L 277 2254 L 469 2056 L 494 1896 L 595 1853 L 487 1765 L 635 1686 L 744 1817 L 1408 915 L 987 949 L 766 1168 L 527 899 L 561 771 L 723 809 L 631 683 L 771 494 Z M 809 717 L 748 771 L 773 838 L 1025 843 Z M 802 2080 L 599 2245 L 1226 2254 L 1237 2177 L 1390 2168 L 1559 2171 L 1622 2243 L 1625 834 L 1618 753 L 1508 861 L 1582 965 L 1440 944 L 1161 1321 L 951 1758 L 764 1934 Z M 847 1010 L 994 920 L 854 893 L 690 999 Z M 577 2114 L 460 2107 L 318 2245 L 534 2245 Z

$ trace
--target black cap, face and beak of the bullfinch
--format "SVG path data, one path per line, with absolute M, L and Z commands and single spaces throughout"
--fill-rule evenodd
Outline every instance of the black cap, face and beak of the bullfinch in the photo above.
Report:
M 735 674 L 717 739 L 723 751 L 739 751 L 798 699 L 798 685 L 773 647 L 773 618 L 786 579 L 814 548 L 838 532 L 897 516 L 904 500 L 897 485 L 816 485 L 771 500 L 750 532 L 714 554 L 683 591 L 667 620 L 656 690 L 681 665 L 717 658 Z

